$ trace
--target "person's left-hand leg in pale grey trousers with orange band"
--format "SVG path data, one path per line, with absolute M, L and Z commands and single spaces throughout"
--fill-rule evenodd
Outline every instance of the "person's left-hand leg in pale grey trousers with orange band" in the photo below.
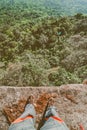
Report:
M 17 118 L 9 127 L 9 130 L 35 130 L 35 108 L 34 105 L 28 103 L 25 111 Z

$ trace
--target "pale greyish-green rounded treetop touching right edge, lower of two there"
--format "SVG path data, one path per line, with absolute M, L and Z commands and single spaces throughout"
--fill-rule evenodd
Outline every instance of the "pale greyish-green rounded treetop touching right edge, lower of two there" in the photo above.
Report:
M 80 66 L 87 64 L 87 51 L 73 51 L 61 62 L 62 66 L 70 72 L 74 72 Z

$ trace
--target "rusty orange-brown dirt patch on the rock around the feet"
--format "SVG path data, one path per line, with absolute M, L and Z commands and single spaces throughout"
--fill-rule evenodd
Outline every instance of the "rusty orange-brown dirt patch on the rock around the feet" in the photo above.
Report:
M 42 114 L 46 108 L 49 98 L 57 97 L 55 93 L 42 93 L 37 100 L 34 99 L 35 109 L 37 114 Z M 4 114 L 7 117 L 9 124 L 11 124 L 15 119 L 17 119 L 21 113 L 24 111 L 27 100 L 20 99 L 16 104 L 10 104 L 4 107 Z M 40 122 L 40 119 L 37 119 Z

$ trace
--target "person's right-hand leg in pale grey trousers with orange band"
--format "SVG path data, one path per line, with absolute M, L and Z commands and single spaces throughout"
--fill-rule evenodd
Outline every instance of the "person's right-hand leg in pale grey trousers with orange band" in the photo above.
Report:
M 69 130 L 64 121 L 59 118 L 57 109 L 53 104 L 48 107 L 45 114 L 45 123 L 40 130 Z

